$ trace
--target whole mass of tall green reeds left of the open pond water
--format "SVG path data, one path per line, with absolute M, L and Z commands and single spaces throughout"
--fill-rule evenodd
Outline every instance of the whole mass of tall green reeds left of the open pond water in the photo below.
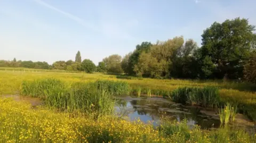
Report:
M 21 84 L 20 93 L 25 96 L 42 98 L 46 107 L 57 109 L 60 112 L 82 113 L 93 119 L 100 119 L 114 112 L 114 100 L 110 92 L 113 93 L 116 90 L 115 88 L 107 90 L 104 86 L 109 83 L 123 85 L 123 82 L 113 82 L 75 82 L 68 85 L 57 79 L 25 80 Z M 104 83 L 104 86 L 100 83 Z

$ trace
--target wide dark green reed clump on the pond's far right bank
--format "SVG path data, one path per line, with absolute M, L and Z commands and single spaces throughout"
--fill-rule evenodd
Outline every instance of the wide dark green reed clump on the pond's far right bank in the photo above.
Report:
M 182 104 L 217 107 L 220 95 L 216 87 L 182 87 L 172 92 L 171 99 Z

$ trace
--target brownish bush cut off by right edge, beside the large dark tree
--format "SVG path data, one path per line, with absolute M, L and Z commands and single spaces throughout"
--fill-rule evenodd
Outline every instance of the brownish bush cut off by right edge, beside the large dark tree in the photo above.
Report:
M 252 52 L 249 60 L 244 65 L 244 78 L 252 83 L 256 83 L 256 51 Z

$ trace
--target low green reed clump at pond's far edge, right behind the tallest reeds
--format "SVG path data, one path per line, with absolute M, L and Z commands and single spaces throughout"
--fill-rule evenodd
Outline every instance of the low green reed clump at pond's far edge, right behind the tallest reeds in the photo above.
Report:
M 111 95 L 128 95 L 130 92 L 129 84 L 124 81 L 98 80 L 95 83 L 98 89 L 104 89 Z

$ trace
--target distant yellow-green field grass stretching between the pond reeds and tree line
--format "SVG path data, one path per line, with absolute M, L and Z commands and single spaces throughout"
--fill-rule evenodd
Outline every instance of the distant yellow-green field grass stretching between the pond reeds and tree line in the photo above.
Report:
M 243 113 L 251 120 L 256 121 L 256 85 L 246 82 L 221 80 L 179 80 L 179 79 L 119 79 L 115 75 L 100 73 L 65 73 L 65 72 L 12 72 L 0 71 L 0 95 L 19 94 L 20 85 L 23 80 L 36 80 L 54 78 L 61 79 L 67 83 L 74 82 L 95 82 L 97 80 L 125 81 L 130 85 L 130 91 L 135 91 L 141 87 L 141 94 L 147 94 L 151 89 L 151 95 L 170 96 L 171 92 L 179 87 L 217 87 L 219 88 L 220 103 L 237 103 L 237 112 Z

